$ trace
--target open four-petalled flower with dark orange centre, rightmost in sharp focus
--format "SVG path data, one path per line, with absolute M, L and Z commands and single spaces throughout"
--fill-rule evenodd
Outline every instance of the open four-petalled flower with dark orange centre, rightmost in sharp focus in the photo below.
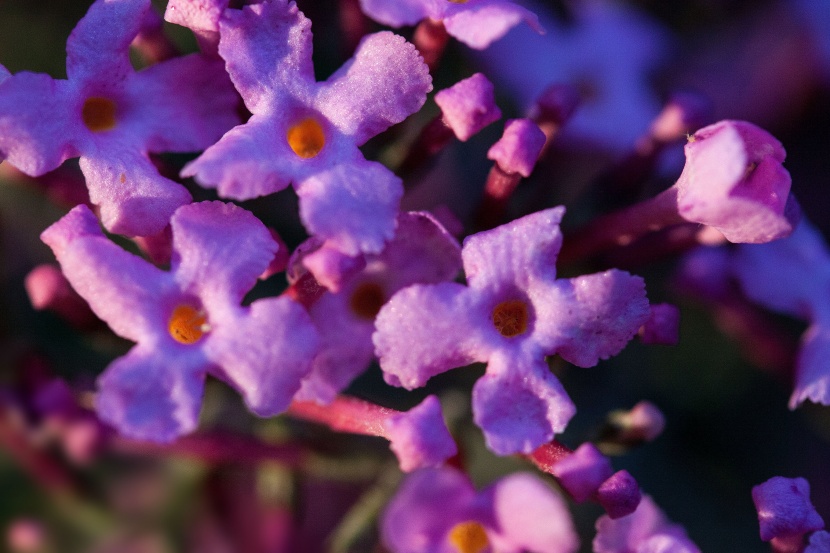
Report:
M 530 453 L 562 432 L 575 407 L 546 355 L 590 367 L 617 354 L 648 318 L 643 280 L 626 272 L 556 279 L 564 208 L 464 241 L 468 286 L 404 288 L 373 336 L 384 378 L 407 389 L 480 361 L 473 413 L 496 453 Z

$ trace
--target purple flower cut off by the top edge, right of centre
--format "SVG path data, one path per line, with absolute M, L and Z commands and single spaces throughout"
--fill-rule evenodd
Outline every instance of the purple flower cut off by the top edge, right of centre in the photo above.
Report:
M 360 0 L 363 12 L 384 25 L 415 25 L 423 19 L 441 21 L 447 33 L 470 48 L 483 50 L 523 20 L 544 33 L 533 12 L 509 0 Z

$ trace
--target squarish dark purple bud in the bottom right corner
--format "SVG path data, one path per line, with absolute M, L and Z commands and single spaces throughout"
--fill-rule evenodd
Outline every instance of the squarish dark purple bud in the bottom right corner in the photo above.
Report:
M 810 484 L 803 478 L 773 476 L 752 488 L 752 501 L 764 541 L 824 528 L 824 521 L 810 502 Z

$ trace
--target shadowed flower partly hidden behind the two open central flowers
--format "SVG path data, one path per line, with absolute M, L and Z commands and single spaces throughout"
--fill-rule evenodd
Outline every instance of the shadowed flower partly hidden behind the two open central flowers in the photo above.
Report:
M 461 269 L 456 240 L 427 213 L 398 217 L 395 238 L 338 293 L 321 296 L 309 310 L 322 347 L 297 399 L 328 403 L 374 358 L 375 316 L 410 284 L 451 280 Z

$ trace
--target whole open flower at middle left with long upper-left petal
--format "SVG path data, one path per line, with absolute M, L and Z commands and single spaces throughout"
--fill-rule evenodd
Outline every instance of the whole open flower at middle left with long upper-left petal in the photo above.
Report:
M 277 244 L 233 204 L 190 204 L 170 224 L 169 272 L 108 240 L 86 206 L 41 236 L 95 314 L 137 343 L 98 380 L 99 416 L 130 437 L 173 440 L 196 427 L 208 373 L 239 390 L 254 413 L 282 412 L 319 338 L 288 298 L 240 305 Z

